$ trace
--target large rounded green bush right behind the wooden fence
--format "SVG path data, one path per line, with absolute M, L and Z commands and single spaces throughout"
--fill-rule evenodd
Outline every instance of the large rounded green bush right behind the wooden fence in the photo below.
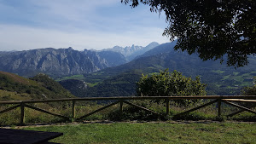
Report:
M 166 69 L 164 72 L 154 73 L 148 77 L 142 76 L 137 82 L 137 95 L 139 96 L 184 96 L 206 95 L 206 84 L 201 84 L 200 78 L 186 78 L 181 72 Z M 192 101 L 179 101 L 189 104 Z

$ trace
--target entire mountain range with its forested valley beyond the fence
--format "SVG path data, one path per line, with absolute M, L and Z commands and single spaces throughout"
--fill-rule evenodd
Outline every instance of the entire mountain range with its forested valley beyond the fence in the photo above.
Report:
M 248 66 L 235 68 L 221 65 L 219 60 L 202 61 L 196 54 L 176 51 L 176 44 L 115 46 L 100 51 L 47 48 L 0 52 L 0 71 L 26 77 L 43 72 L 81 97 L 136 95 L 136 82 L 142 73 L 150 75 L 166 68 L 187 77 L 200 76 L 207 84 L 207 95 L 239 95 L 243 87 L 253 83 L 254 55 L 249 55 Z

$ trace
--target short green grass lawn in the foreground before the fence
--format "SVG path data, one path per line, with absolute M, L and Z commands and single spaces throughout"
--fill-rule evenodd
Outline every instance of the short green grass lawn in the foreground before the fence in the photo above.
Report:
M 113 123 L 26 127 L 62 132 L 52 142 L 84 143 L 256 143 L 256 123 Z

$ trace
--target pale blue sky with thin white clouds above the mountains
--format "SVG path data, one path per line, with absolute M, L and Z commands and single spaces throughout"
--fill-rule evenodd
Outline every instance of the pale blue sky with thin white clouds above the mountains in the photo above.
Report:
M 0 51 L 167 43 L 165 14 L 121 0 L 0 0 Z

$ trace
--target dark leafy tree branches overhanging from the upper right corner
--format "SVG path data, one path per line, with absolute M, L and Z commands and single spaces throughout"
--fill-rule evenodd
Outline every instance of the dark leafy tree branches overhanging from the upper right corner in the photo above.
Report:
M 255 55 L 256 1 L 254 0 L 121 0 L 135 8 L 139 3 L 166 14 L 163 32 L 178 39 L 174 49 L 196 53 L 202 60 L 224 60 L 228 66 L 247 65 Z

